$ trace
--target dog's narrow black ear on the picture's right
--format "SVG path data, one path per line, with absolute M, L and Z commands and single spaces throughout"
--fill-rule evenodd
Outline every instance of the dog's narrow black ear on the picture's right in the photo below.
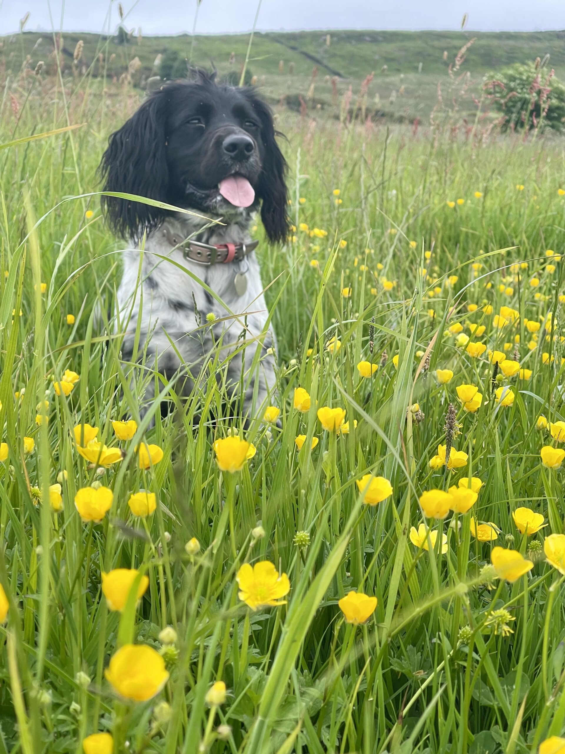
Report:
M 257 187 L 261 199 L 261 220 L 270 241 L 284 241 L 289 235 L 288 195 L 286 190 L 287 164 L 276 136 L 282 136 L 273 126 L 270 108 L 255 94 L 251 95 L 253 109 L 261 119 L 264 161 Z

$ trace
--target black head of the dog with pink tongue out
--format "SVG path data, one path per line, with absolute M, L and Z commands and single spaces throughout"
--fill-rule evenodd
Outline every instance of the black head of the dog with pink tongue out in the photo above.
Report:
M 228 221 L 258 210 L 271 241 L 288 234 L 286 161 L 269 107 L 249 87 L 222 86 L 197 71 L 152 93 L 112 133 L 100 170 L 104 190 L 144 196 Z M 108 222 L 137 237 L 163 210 L 102 197 Z

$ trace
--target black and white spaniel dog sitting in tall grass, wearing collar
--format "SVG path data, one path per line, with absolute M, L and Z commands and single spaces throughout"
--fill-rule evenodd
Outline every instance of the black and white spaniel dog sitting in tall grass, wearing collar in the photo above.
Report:
M 109 225 L 130 245 L 117 301 L 122 360 L 133 360 L 139 327 L 138 352 L 156 359 L 166 380 L 182 375 L 180 392 L 188 395 L 219 348 L 231 400 L 243 385 L 247 418 L 267 405 L 276 382 L 276 343 L 250 228 L 260 210 L 270 242 L 289 234 L 287 164 L 277 136 L 273 113 L 254 89 L 219 84 L 215 72 L 199 69 L 151 93 L 111 134 L 100 163 L 104 192 L 191 211 L 102 196 Z

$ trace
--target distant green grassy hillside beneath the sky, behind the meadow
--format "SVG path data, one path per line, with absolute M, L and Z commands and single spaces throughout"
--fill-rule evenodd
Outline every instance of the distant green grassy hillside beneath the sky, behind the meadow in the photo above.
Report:
M 328 77 L 337 76 L 337 92 L 343 95 L 350 85 L 353 92 L 368 74 L 374 79 L 368 100 L 377 103 L 386 115 L 412 119 L 428 115 L 437 97 L 438 81 L 447 81 L 448 68 L 457 52 L 475 38 L 460 68 L 469 72 L 463 109 L 472 110 L 472 95 L 478 94 L 483 75 L 518 61 L 549 55 L 549 66 L 557 76 L 565 76 L 565 32 L 270 32 L 255 35 L 249 69 L 257 76 L 265 95 L 276 102 L 282 97 L 298 109 L 299 96 L 312 109 L 331 107 L 332 87 Z M 140 67 L 135 82 L 144 84 L 155 73 L 154 61 L 159 54 L 176 51 L 181 61 L 191 60 L 202 66 L 215 65 L 221 74 L 240 72 L 245 60 L 249 35 L 169 37 L 133 35 L 124 44 L 115 37 L 95 34 L 65 33 L 62 60 L 66 75 L 73 69 L 73 52 L 79 39 L 84 41 L 81 63 L 76 73 L 91 70 L 119 80 L 136 57 Z M 38 60 L 47 71 L 55 72 L 53 38 L 48 34 L 24 32 L 3 38 L 0 66 L 14 75 L 26 57 L 34 68 Z M 103 62 L 99 62 L 99 54 Z M 231 62 L 230 62 L 231 61 Z M 317 68 L 314 90 L 313 69 Z

